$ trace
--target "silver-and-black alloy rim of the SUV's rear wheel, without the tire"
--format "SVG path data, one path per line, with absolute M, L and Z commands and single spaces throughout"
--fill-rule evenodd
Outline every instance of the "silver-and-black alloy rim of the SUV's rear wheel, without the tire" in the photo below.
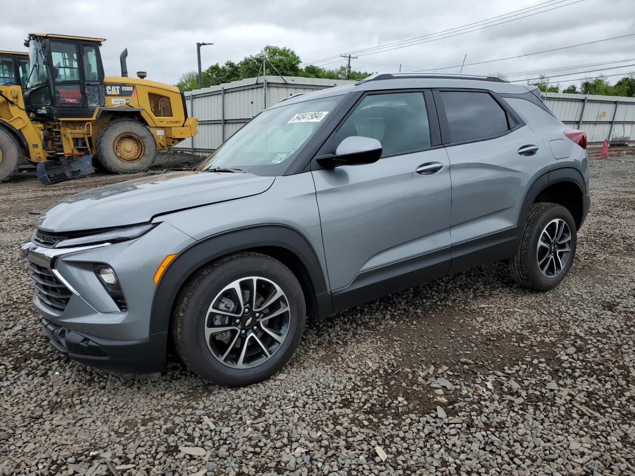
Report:
M 540 274 L 546 278 L 558 276 L 571 255 L 571 230 L 565 220 L 549 221 L 540 233 L 536 248 L 536 261 Z

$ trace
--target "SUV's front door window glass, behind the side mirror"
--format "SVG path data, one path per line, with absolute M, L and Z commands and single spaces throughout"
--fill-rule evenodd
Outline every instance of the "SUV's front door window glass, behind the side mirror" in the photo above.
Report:
M 349 136 L 372 137 L 382 143 L 382 157 L 430 147 L 424 93 L 366 96 L 335 133 L 339 145 Z

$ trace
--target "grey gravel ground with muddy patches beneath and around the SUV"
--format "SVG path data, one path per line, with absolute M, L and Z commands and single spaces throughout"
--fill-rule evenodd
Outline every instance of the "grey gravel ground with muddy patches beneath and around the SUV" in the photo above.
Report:
M 635 475 L 635 154 L 591 171 L 559 288 L 500 264 L 419 286 L 309 324 L 282 373 L 236 389 L 175 357 L 122 380 L 58 354 L 17 245 L 58 198 L 122 178 L 0 185 L 0 474 Z

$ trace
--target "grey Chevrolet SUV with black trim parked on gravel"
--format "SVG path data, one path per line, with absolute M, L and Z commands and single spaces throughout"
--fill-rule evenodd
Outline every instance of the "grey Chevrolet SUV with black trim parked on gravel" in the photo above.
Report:
M 493 261 L 558 285 L 589 209 L 583 131 L 495 77 L 373 76 L 293 96 L 194 171 L 74 195 L 23 244 L 44 334 L 124 374 L 278 371 L 324 319 Z

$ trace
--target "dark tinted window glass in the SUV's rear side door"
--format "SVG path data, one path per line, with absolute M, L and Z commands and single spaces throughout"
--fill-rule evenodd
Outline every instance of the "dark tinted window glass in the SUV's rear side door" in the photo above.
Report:
M 507 114 L 488 93 L 441 91 L 450 141 L 483 139 L 509 130 Z

